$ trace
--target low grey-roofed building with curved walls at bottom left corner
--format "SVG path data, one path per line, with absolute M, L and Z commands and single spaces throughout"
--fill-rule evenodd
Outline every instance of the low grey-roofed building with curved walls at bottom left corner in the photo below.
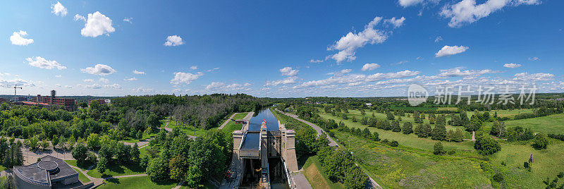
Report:
M 73 188 L 78 183 L 78 172 L 63 159 L 47 155 L 28 166 L 14 166 L 16 188 Z

